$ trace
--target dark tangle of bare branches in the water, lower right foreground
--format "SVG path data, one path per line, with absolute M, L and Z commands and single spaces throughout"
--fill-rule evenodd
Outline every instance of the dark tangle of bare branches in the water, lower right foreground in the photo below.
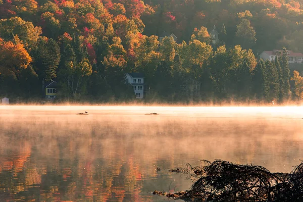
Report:
M 289 174 L 221 160 L 203 162 L 204 166 L 169 170 L 193 177 L 190 190 L 154 194 L 185 201 L 303 201 L 303 162 Z

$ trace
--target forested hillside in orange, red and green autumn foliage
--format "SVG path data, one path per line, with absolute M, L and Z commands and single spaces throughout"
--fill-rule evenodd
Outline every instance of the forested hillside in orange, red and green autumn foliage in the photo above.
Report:
M 146 100 L 271 100 L 291 97 L 287 56 L 303 52 L 302 0 L 0 0 L 0 96 L 58 100 L 134 99 L 124 74 L 145 75 Z M 216 26 L 220 42 L 212 44 Z M 164 38 L 163 32 L 177 36 Z M 201 82 L 186 94 L 186 78 Z M 303 96 L 295 75 L 293 94 Z

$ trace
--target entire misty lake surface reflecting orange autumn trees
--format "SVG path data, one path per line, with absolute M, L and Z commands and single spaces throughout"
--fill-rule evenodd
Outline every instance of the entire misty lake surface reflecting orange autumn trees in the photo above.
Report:
M 0 110 L 0 201 L 166 201 L 151 192 L 189 189 L 186 175 L 167 172 L 185 162 L 290 172 L 303 159 L 295 107 Z

